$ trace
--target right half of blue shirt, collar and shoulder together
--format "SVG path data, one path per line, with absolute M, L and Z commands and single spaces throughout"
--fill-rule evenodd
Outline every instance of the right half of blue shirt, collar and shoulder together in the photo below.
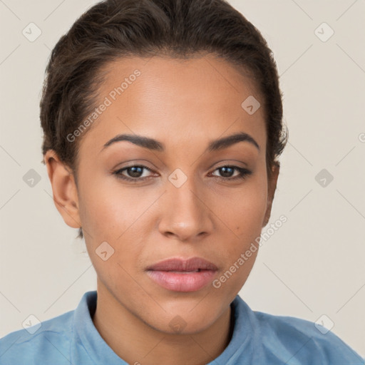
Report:
M 235 330 L 231 351 L 237 359 L 243 361 L 250 354 L 252 364 L 365 365 L 333 331 L 314 322 L 253 311 L 239 295 L 232 308 Z

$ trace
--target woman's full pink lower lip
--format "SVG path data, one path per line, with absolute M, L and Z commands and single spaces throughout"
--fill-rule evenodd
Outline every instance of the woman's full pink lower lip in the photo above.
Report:
M 148 270 L 148 276 L 165 289 L 174 292 L 196 292 L 212 281 L 216 271 L 202 270 L 200 272 L 170 272 Z

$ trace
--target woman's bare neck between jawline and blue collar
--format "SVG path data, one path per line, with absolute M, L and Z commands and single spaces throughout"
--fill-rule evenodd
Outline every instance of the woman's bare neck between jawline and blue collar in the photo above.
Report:
M 222 354 L 232 336 L 230 306 L 203 331 L 169 334 L 135 317 L 99 281 L 93 324 L 115 354 L 135 365 L 207 364 Z

